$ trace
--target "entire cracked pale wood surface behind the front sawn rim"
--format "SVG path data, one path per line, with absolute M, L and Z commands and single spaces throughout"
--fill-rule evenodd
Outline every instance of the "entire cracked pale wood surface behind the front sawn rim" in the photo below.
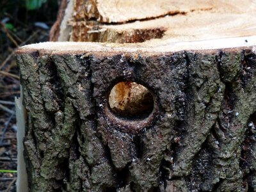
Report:
M 69 1 L 69 4 L 71 2 Z M 63 26 L 68 26 L 65 28 L 66 35 L 64 38 L 61 35 L 51 36 L 51 40 L 136 43 L 154 38 L 204 40 L 255 34 L 254 0 L 246 0 L 243 3 L 238 0 L 186 1 L 185 3 L 147 1 L 147 5 L 145 2 L 76 1 L 73 5 L 74 10 L 70 8 L 72 5 L 66 9 L 66 12 L 67 10 L 73 12 L 73 17 L 63 19 Z M 117 11 L 120 7 L 124 10 Z M 152 7 L 155 11 L 152 11 Z M 113 12 L 107 11 L 110 9 Z M 99 10 L 102 10 L 102 13 Z M 139 16 L 137 17 L 136 14 Z M 147 16 L 150 14 L 150 17 Z M 111 20 L 109 18 L 116 18 L 115 15 L 119 15 L 118 18 L 121 20 L 113 19 L 109 24 L 105 22 Z M 61 22 L 60 20 L 58 22 Z M 131 21 L 125 24 L 129 20 Z

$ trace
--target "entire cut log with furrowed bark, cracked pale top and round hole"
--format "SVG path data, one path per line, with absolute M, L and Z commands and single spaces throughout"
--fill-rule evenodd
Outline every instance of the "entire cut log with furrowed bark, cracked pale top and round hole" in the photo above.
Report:
M 31 191 L 256 191 L 255 1 L 192 2 L 66 1 L 52 40 L 141 43 L 17 51 Z

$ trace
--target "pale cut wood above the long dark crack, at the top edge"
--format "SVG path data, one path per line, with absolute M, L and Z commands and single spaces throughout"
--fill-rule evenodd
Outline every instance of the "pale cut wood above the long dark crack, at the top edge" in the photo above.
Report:
M 130 20 L 152 19 L 168 14 L 188 13 L 195 10 L 209 10 L 214 8 L 214 1 L 210 0 L 77 0 L 75 10 L 76 19 L 97 19 L 99 22 L 119 23 Z M 82 5 L 83 4 L 83 5 Z M 82 6 L 81 6 L 82 5 Z

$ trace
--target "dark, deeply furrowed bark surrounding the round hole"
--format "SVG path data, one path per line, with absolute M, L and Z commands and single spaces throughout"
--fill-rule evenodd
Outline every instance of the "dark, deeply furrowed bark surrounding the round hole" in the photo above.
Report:
M 17 55 L 31 191 L 256 191 L 256 55 L 250 50 Z M 143 120 L 108 106 L 143 84 Z

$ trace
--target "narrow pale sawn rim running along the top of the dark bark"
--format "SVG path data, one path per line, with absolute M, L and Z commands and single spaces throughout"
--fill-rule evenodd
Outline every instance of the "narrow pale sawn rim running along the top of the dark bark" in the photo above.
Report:
M 72 54 L 79 52 L 106 52 L 106 54 L 123 54 L 125 52 L 148 52 L 148 54 L 161 54 L 179 51 L 211 52 L 218 49 L 251 49 L 255 52 L 256 36 L 242 36 L 235 38 L 216 38 L 213 40 L 198 40 L 173 42 L 168 40 L 155 40 L 140 44 L 111 44 L 95 42 L 44 42 L 20 47 L 17 53 L 26 53 L 41 50 L 42 52 L 55 54 Z

